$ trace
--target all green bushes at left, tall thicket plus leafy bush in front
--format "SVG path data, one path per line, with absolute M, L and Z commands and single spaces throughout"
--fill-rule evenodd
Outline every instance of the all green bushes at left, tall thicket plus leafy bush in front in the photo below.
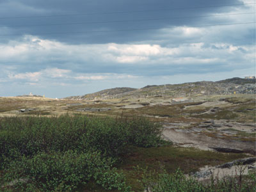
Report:
M 130 145 L 160 143 L 159 126 L 145 119 L 3 118 L 0 170 L 7 186 L 15 181 L 13 186 L 24 191 L 70 191 L 92 179 L 104 189 L 131 191 L 111 166 Z

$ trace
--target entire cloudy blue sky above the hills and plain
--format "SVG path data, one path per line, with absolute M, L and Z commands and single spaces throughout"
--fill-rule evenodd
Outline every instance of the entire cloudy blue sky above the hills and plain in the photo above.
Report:
M 0 0 L 0 97 L 255 76 L 255 0 Z

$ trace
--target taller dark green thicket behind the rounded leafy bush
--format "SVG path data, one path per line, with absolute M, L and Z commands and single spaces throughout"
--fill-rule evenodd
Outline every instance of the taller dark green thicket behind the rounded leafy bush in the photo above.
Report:
M 159 127 L 144 119 L 129 122 L 86 116 L 12 117 L 0 122 L 0 163 L 39 152 L 100 151 L 116 157 L 127 145 L 157 146 Z

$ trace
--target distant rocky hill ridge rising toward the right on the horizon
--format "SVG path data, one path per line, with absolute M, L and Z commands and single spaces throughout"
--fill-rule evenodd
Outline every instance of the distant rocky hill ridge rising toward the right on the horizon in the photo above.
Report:
M 253 83 L 254 82 L 254 83 Z M 141 97 L 193 97 L 197 95 L 228 95 L 236 93 L 255 94 L 255 79 L 238 77 L 223 81 L 199 81 L 182 84 L 148 85 L 140 89 L 113 88 L 66 99 L 121 99 Z

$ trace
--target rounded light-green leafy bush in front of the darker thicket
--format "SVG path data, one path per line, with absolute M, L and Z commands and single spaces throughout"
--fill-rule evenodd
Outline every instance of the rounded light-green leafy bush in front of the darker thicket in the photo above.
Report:
M 97 152 L 41 153 L 10 164 L 5 179 L 6 182 L 16 180 L 15 186 L 22 191 L 72 191 L 91 179 L 106 189 L 129 191 L 124 175 L 112 170 L 111 164 L 110 159 L 102 158 Z

